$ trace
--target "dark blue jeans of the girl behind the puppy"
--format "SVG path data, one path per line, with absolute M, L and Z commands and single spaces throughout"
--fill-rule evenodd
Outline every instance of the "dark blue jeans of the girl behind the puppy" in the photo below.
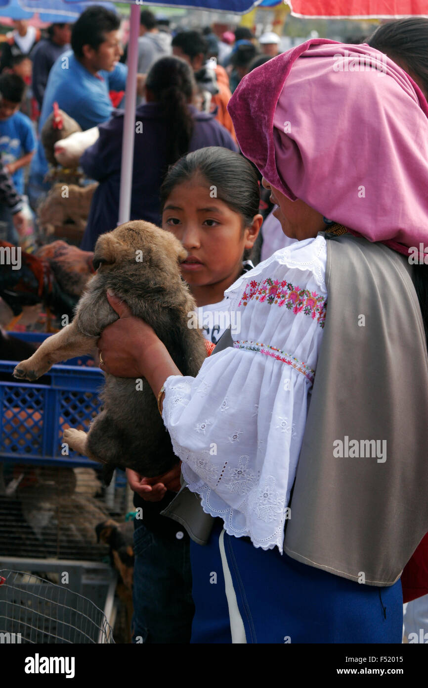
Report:
M 190 643 L 194 604 L 189 536 L 134 530 L 133 643 Z

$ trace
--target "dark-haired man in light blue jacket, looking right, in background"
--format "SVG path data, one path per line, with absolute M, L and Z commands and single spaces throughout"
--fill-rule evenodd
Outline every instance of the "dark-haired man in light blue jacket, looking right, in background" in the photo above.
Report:
M 128 68 L 120 63 L 120 19 L 103 7 L 91 6 L 73 26 L 71 48 L 60 55 L 51 69 L 38 125 L 40 134 L 54 103 L 74 118 L 83 130 L 96 127 L 111 116 L 110 91 L 123 91 Z M 142 76 L 139 76 L 142 92 Z M 30 202 L 49 191 L 43 180 L 48 171 L 43 145 L 38 142 L 30 169 Z

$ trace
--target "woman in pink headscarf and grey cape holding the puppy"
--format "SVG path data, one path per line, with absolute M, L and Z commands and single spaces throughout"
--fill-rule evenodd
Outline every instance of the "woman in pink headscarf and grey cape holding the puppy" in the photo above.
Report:
M 183 462 L 192 642 L 400 643 L 428 530 L 428 105 L 377 50 L 312 39 L 229 112 L 297 241 L 227 290 L 240 333 L 196 378 L 110 325 Z

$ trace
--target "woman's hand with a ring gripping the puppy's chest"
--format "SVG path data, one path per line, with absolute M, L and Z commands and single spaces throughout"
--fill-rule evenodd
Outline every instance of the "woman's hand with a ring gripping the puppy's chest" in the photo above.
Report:
M 107 299 L 120 318 L 107 325 L 98 339 L 100 368 L 118 378 L 144 376 L 144 354 L 161 342 L 150 325 L 131 314 L 126 303 L 109 292 Z

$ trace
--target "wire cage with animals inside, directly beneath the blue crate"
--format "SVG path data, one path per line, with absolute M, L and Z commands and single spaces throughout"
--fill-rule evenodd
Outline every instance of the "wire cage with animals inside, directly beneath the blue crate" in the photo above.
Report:
M 1 461 L 0 557 L 102 561 L 109 555 L 95 528 L 122 522 L 132 505 L 126 476 L 105 488 L 89 468 Z

